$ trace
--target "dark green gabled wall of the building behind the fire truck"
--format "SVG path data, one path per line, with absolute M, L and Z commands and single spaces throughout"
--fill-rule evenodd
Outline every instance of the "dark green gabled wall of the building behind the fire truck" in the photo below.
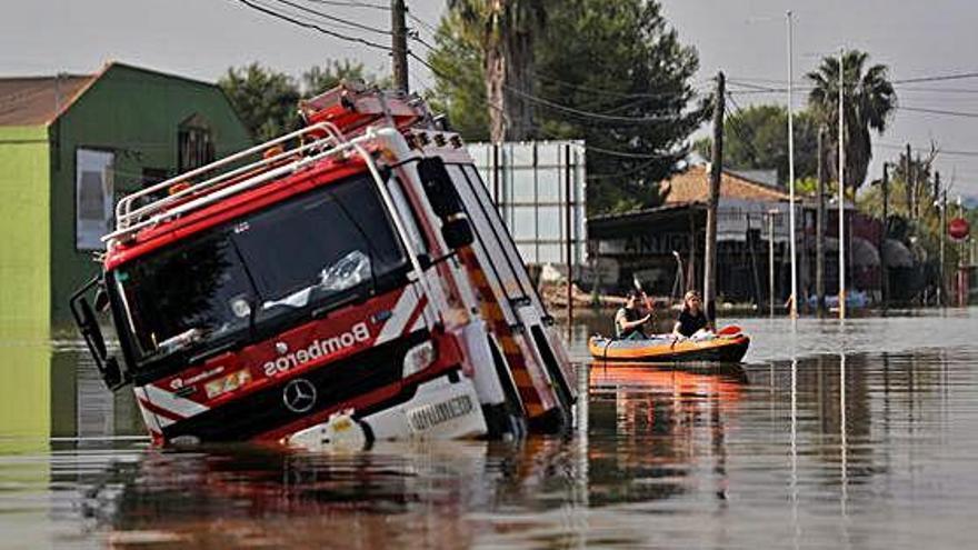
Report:
M 70 321 L 68 298 L 98 266 L 76 250 L 74 159 L 79 148 L 114 152 L 116 200 L 139 189 L 143 168 L 177 170 L 180 122 L 200 114 L 217 157 L 248 147 L 247 129 L 220 89 L 123 64 L 111 66 L 51 127 L 51 307 L 57 328 Z

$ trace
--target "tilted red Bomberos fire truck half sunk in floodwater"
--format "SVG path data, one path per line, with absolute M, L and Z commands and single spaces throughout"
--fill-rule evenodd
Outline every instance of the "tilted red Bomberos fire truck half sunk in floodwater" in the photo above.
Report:
M 300 108 L 303 129 L 118 203 L 71 300 L 106 383 L 158 442 L 566 422 L 566 350 L 459 137 L 348 84 Z

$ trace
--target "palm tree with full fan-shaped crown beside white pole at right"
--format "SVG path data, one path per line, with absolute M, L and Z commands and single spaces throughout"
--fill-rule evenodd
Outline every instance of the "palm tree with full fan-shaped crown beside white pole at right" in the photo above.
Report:
M 854 190 L 866 181 L 866 172 L 872 159 L 870 130 L 881 134 L 897 108 L 897 93 L 887 79 L 889 69 L 885 64 L 875 64 L 864 70 L 868 59 L 869 54 L 859 50 L 849 50 L 842 54 L 846 186 Z M 821 66 L 806 74 L 806 78 L 815 86 L 808 94 L 808 103 L 816 117 L 828 127 L 835 143 L 826 160 L 834 167 L 838 166 L 839 58 L 824 58 Z

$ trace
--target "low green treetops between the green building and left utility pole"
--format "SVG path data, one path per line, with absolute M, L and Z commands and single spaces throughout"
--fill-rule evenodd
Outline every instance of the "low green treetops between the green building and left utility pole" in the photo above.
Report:
M 251 63 L 229 68 L 218 80 L 251 136 L 267 141 L 300 124 L 299 99 L 336 87 L 341 80 L 363 80 L 383 87 L 389 79 L 378 79 L 363 63 L 349 60 L 327 61 L 312 67 L 299 78 Z

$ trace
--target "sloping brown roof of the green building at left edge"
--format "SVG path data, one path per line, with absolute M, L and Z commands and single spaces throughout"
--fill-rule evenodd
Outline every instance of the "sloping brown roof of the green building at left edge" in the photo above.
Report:
M 0 126 L 47 124 L 96 78 L 98 74 L 0 78 Z

